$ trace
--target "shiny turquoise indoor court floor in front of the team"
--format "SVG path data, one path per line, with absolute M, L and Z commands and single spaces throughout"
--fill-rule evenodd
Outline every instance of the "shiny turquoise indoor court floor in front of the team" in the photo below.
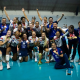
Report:
M 78 53 L 75 60 L 78 59 Z M 80 80 L 80 65 L 74 61 L 71 63 L 74 68 L 71 75 L 67 75 L 67 69 L 54 69 L 55 62 L 38 65 L 34 60 L 19 63 L 10 61 L 11 69 L 7 70 L 6 63 L 3 63 L 3 70 L 0 71 L 0 80 Z

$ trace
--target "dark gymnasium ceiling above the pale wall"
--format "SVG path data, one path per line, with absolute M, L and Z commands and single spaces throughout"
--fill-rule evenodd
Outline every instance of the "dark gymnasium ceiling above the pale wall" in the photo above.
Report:
M 6 6 L 7 10 L 36 10 L 80 12 L 80 0 L 0 0 L 0 10 Z

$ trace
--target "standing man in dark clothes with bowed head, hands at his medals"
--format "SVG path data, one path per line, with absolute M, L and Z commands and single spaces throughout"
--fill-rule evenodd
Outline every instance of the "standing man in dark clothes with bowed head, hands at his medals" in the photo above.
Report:
M 77 42 L 78 42 L 78 31 L 74 29 L 73 25 L 70 25 L 68 28 L 68 47 L 69 47 L 69 54 L 68 54 L 68 58 L 71 54 L 71 49 L 72 49 L 72 45 L 73 45 L 73 54 L 72 54 L 72 58 L 70 62 L 74 62 L 74 58 L 76 55 L 76 47 L 77 47 Z

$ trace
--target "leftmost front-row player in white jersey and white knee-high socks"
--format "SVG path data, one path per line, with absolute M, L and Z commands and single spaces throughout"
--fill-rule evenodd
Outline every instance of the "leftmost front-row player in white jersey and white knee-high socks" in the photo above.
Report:
M 7 62 L 7 69 L 10 69 L 9 65 L 9 53 L 6 53 L 7 44 L 10 40 L 11 31 L 7 31 L 7 34 L 5 36 L 1 36 L 0 38 L 0 70 L 3 69 L 2 65 L 2 56 L 6 55 L 6 62 Z

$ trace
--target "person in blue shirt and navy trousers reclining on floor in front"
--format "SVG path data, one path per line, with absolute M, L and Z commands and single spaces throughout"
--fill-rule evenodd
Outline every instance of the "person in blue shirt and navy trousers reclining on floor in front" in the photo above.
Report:
M 50 54 L 49 54 L 49 61 L 46 63 L 50 63 L 51 55 L 53 55 L 56 61 L 55 69 L 68 68 L 67 74 L 71 75 L 71 68 L 73 68 L 73 66 L 70 66 L 67 55 L 63 54 L 63 51 L 60 48 L 57 48 L 56 43 L 52 43 L 52 49 L 50 50 Z

